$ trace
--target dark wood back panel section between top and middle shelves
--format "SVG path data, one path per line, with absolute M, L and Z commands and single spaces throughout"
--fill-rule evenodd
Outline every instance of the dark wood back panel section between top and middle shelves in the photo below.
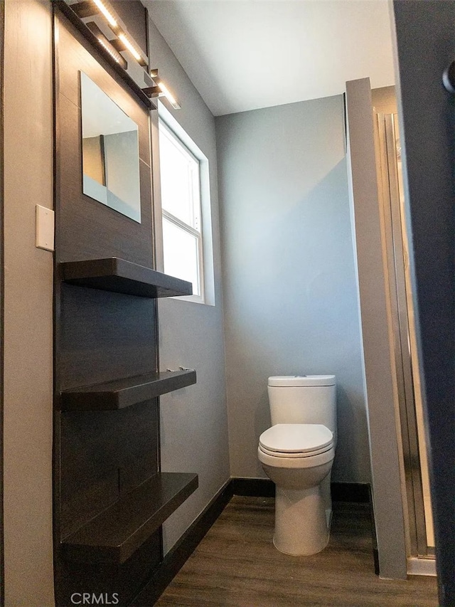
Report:
M 156 369 L 156 300 L 61 285 L 58 389 Z

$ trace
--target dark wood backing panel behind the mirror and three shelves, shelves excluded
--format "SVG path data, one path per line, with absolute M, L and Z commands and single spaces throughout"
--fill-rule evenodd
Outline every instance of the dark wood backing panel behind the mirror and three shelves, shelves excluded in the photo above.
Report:
M 68 28 L 68 31 L 67 31 Z M 153 268 L 149 115 L 63 17 L 55 54 L 55 407 L 60 392 L 157 371 L 156 301 L 61 282 L 59 263 L 123 258 Z M 93 53 L 93 55 L 92 55 Z M 141 223 L 82 194 L 79 70 L 139 125 Z M 55 412 L 55 601 L 100 593 L 127 606 L 162 558 L 161 529 L 122 565 L 63 558 L 61 537 L 122 500 L 159 468 L 156 398 L 119 411 Z M 115 604 L 115 603 L 114 603 Z

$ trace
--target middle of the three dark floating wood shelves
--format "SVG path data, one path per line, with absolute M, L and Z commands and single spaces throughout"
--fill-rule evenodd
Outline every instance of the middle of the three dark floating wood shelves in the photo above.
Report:
M 114 379 L 60 393 L 62 411 L 114 411 L 196 384 L 196 371 L 163 371 Z

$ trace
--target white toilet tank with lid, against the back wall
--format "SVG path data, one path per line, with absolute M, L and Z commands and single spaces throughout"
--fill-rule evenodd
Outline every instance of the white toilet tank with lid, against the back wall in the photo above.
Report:
M 270 416 L 277 423 L 322 423 L 336 436 L 334 375 L 269 377 Z

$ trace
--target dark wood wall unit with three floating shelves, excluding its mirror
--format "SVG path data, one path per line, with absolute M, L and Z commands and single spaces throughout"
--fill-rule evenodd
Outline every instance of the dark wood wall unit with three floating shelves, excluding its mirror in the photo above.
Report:
M 117 4 L 145 49 L 144 6 Z M 102 56 L 72 6 L 53 3 L 55 602 L 70 607 L 83 590 L 129 605 L 163 559 L 161 525 L 198 487 L 196 474 L 160 472 L 157 402 L 196 383 L 196 371 L 158 371 L 156 298 L 192 295 L 192 285 L 151 269 L 154 102 Z M 137 125 L 141 223 L 83 193 L 81 70 Z

